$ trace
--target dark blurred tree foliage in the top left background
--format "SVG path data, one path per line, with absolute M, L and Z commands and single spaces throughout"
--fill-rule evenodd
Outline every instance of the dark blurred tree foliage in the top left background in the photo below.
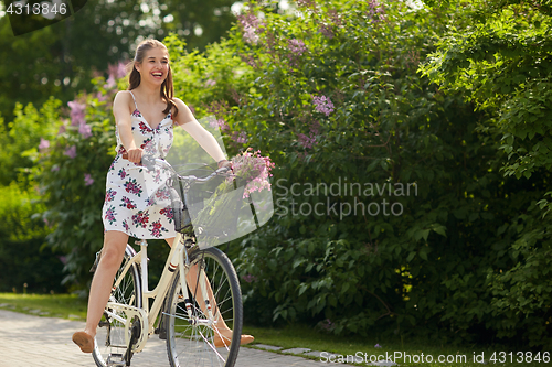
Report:
M 74 15 L 20 36 L 13 36 L 0 8 L 0 115 L 10 121 L 15 102 L 40 106 L 55 96 L 65 104 L 83 89 L 91 91 L 91 80 L 130 60 L 144 37 L 178 32 L 189 50 L 202 50 L 230 29 L 232 3 L 88 0 Z

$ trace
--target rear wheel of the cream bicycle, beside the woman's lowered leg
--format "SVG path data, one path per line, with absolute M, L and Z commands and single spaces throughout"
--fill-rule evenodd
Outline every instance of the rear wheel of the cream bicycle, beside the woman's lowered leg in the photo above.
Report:
M 127 269 L 127 271 L 123 272 L 127 262 L 135 255 L 136 251 L 134 248 L 127 245 L 125 257 L 119 270 L 117 270 L 114 284 L 116 284 L 117 281 L 120 282 L 117 288 L 112 289 L 109 300 L 121 304 L 141 307 L 142 294 L 140 267 L 135 262 Z M 107 306 L 106 310 L 108 310 Z M 121 316 L 125 317 L 125 314 L 123 313 Z M 97 328 L 94 350 L 92 353 L 96 366 L 126 366 L 124 360 L 126 352 L 127 345 L 125 343 L 125 324 L 104 313 Z

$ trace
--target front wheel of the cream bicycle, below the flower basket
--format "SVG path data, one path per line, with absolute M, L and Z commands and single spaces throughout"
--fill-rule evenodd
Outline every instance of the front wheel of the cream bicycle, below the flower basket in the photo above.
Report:
M 233 367 L 240 350 L 240 339 L 242 335 L 243 309 L 242 292 L 235 269 L 224 252 L 217 248 L 198 250 L 191 255 L 191 263 L 203 266 L 209 284 L 214 296 L 212 312 L 215 319 L 221 315 L 233 331 L 230 346 L 214 347 L 214 335 L 217 333 L 217 325 L 205 325 L 190 321 L 180 283 L 179 271 L 177 270 L 173 283 L 167 295 L 166 325 L 167 325 L 167 353 L 171 367 Z M 198 269 L 198 268 L 195 268 Z M 201 272 L 197 272 L 198 276 Z M 195 277 L 198 277 L 195 276 Z M 198 277 L 199 278 L 199 277 Z M 190 282 L 188 280 L 187 282 Z M 205 312 L 192 293 L 194 287 L 188 285 L 189 295 L 192 303 L 192 317 L 197 321 L 205 321 Z M 195 287 L 195 290 L 199 288 Z M 200 292 L 201 294 L 201 292 Z M 204 306 L 203 306 L 204 309 Z

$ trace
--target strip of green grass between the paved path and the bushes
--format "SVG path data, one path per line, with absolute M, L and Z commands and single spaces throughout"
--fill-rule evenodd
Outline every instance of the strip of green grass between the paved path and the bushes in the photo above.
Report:
M 40 316 L 55 316 L 84 321 L 86 317 L 86 301 L 76 295 L 55 294 L 13 294 L 0 293 L 0 309 L 17 311 L 22 313 L 35 314 Z M 294 325 L 283 328 L 251 327 L 244 326 L 244 333 L 255 336 L 256 344 L 266 344 L 287 348 L 309 348 L 318 352 L 332 353 L 337 356 L 322 354 L 321 357 L 311 357 L 321 361 L 362 361 L 355 364 L 365 366 L 364 361 L 370 361 L 370 357 L 378 356 L 392 357 L 400 366 L 427 366 L 427 367 L 448 367 L 448 366 L 550 366 L 550 352 L 537 355 L 532 358 L 540 358 L 540 361 L 529 361 L 529 349 L 509 350 L 503 347 L 481 348 L 477 346 L 450 346 L 435 342 L 422 339 L 396 341 L 383 339 L 376 336 L 371 337 L 341 337 L 314 331 L 307 326 Z M 252 347 L 255 347 L 254 345 Z M 402 355 L 400 355 L 402 354 Z M 410 355 L 411 361 L 407 363 Z M 349 356 L 349 357 L 348 357 Z M 439 356 L 445 358 L 443 363 L 438 361 Z M 395 359 L 393 359 L 395 357 Z M 495 358 L 492 358 L 495 357 Z M 433 363 L 429 361 L 433 358 Z M 450 360 L 447 363 L 446 360 Z M 475 359 L 475 360 L 474 360 Z M 372 359 L 375 360 L 375 359 Z M 405 361 L 406 360 L 406 361 Z M 455 360 L 453 363 L 453 360 Z M 457 363 L 456 363 L 457 361 Z M 464 361 L 464 363 L 461 363 Z M 510 363 L 511 361 L 511 363 Z M 329 363 L 328 365 L 332 365 Z

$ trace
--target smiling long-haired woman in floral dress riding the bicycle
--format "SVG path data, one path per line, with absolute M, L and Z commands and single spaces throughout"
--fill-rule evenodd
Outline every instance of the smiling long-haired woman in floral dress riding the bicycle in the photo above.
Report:
M 94 349 L 96 327 L 109 299 L 128 237 L 164 238 L 172 246 L 176 236 L 170 206 L 160 205 L 144 193 L 146 187 L 151 192 L 156 185 L 162 185 L 140 165 L 145 151 L 164 158 L 172 145 L 173 128 L 180 126 L 219 162 L 219 168 L 230 166 L 216 139 L 195 120 L 182 100 L 173 97 L 169 53 L 157 40 L 145 40 L 138 45 L 128 90 L 117 93 L 113 112 L 117 127 L 117 155 L 107 172 L 102 216 L 104 247 L 91 285 L 86 327 L 73 334 L 73 342 L 84 353 Z M 124 153 L 128 160 L 123 159 Z M 232 336 L 230 328 L 219 327 L 219 332 L 224 337 Z M 242 335 L 241 344 L 251 342 L 253 336 Z

